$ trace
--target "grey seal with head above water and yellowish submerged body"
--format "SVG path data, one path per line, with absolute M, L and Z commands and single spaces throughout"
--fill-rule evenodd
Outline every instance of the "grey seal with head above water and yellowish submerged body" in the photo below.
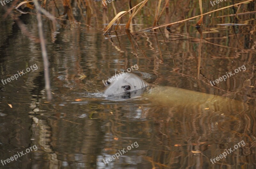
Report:
M 166 106 L 183 106 L 197 109 L 212 109 L 214 111 L 244 111 L 246 103 L 222 96 L 195 92 L 182 88 L 150 85 L 139 76 L 127 73 L 109 83 L 103 96 L 116 99 L 128 99 L 142 95 L 142 98 L 152 100 L 152 103 Z M 146 92 L 145 92 L 146 91 Z

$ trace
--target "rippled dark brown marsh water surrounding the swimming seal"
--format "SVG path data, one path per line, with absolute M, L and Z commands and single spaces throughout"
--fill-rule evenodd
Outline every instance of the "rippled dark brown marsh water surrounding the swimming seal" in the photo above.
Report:
M 102 15 L 101 2 L 92 2 Z M 166 15 L 163 22 L 166 17 L 174 22 L 182 20 L 181 16 L 199 14 L 190 7 L 182 3 L 176 4 L 177 11 L 170 7 L 172 17 Z M 133 31 L 151 24 L 147 16 L 152 14 L 143 12 L 139 15 L 142 18 L 135 18 Z M 1 16 L 4 13 L 2 10 Z M 226 10 L 222 15 L 235 13 Z M 14 16 L 24 23 L 27 32 L 20 30 Z M 35 64 L 37 69 L 35 66 L 17 80 L 0 83 L 0 160 L 24 153 L 33 145 L 37 150 L 32 148 L 6 165 L 0 163 L 0 168 L 255 168 L 255 14 L 239 15 L 237 25 L 226 24 L 232 23 L 234 16 L 211 17 L 204 18 L 201 30 L 195 27 L 197 20 L 189 20 L 172 25 L 171 32 L 158 29 L 130 33 L 122 26 L 108 36 L 103 35 L 102 18 L 92 19 L 93 27 L 87 27 L 53 23 L 44 17 L 51 101 L 44 87 L 36 15 L 14 12 L 1 18 L 1 79 L 22 70 L 25 73 Z M 223 96 L 244 102 L 247 107 L 243 111 L 202 110 L 183 102 L 184 106 L 177 109 L 172 104 L 154 104 L 145 97 L 101 97 L 105 88 L 102 80 L 115 72 L 127 72 L 135 64 L 138 70 L 131 73 L 153 88 L 171 86 Z M 241 71 L 226 81 L 211 85 L 210 81 L 239 67 Z M 131 144 L 133 148 L 128 147 Z M 229 148 L 234 151 L 216 159 Z M 119 152 L 122 155 L 113 157 Z M 216 163 L 211 162 L 213 158 Z M 108 164 L 103 159 L 108 159 Z

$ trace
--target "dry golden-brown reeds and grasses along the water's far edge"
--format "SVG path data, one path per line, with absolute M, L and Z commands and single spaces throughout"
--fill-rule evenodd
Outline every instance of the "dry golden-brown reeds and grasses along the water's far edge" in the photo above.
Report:
M 228 5 L 225 4 L 226 6 L 223 6 L 224 4 L 219 4 L 216 5 L 218 8 L 215 10 L 213 10 L 214 8 L 212 8 L 209 2 L 202 2 L 202 0 L 198 0 L 198 2 L 194 2 L 193 4 L 192 2 L 179 2 L 177 0 L 115 0 L 111 1 L 111 3 L 107 3 L 107 6 L 104 6 L 101 1 L 94 0 L 62 0 L 62 2 L 56 0 L 44 0 L 41 1 L 41 6 L 46 11 L 49 11 L 55 19 L 62 21 L 62 24 L 67 24 L 67 21 L 69 21 L 71 26 L 79 24 L 100 27 L 100 24 L 102 23 L 105 27 L 104 33 L 106 34 L 111 30 L 117 30 L 117 28 L 123 29 L 120 24 L 124 24 L 124 29 L 129 29 L 130 32 L 156 30 L 162 27 L 170 28 L 171 25 L 192 19 L 198 19 L 198 22 L 196 23 L 198 26 L 202 24 L 203 16 L 205 15 L 216 16 L 217 14 L 218 17 L 228 17 L 235 21 L 233 18 L 237 18 L 238 15 L 246 15 L 256 12 L 255 9 L 254 11 L 251 11 L 252 9 L 250 6 L 252 5 L 248 5 L 253 1 L 254 0 L 247 0 L 244 2 L 234 1 L 233 3 L 227 3 Z M 13 3 L 12 6 L 16 3 L 17 2 Z M 36 11 L 33 10 L 34 5 L 31 3 L 33 3 L 33 1 L 21 2 L 19 5 L 16 5 L 15 9 L 20 13 L 36 14 Z M 4 18 L 11 12 L 12 6 L 8 10 L 7 7 L 5 7 L 7 12 L 5 13 Z M 208 8 L 205 8 L 205 6 L 208 6 Z M 32 11 L 22 11 L 21 9 L 24 9 L 25 7 L 30 8 Z M 176 17 L 174 15 L 176 10 L 180 7 L 183 8 L 184 13 L 188 13 L 187 16 Z M 232 11 L 234 9 L 236 10 L 235 13 Z M 191 12 L 193 12 L 193 14 Z M 234 13 L 233 15 L 235 16 L 231 13 Z M 228 16 L 228 14 L 231 15 Z M 146 22 L 141 20 L 141 16 L 144 17 Z M 50 15 L 46 15 L 46 17 L 51 18 Z M 210 19 L 213 20 L 214 18 L 211 17 Z M 114 24 L 117 25 L 115 25 L 115 28 L 113 29 L 112 27 Z M 143 29 L 140 29 L 139 27 L 140 30 L 134 30 L 134 25 L 136 24 L 143 24 Z

